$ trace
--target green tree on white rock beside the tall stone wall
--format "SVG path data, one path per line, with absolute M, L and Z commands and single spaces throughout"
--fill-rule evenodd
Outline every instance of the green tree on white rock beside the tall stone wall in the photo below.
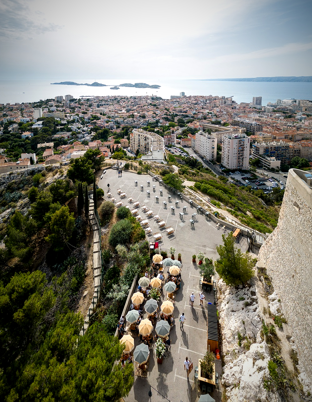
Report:
M 233 232 L 222 235 L 223 246 L 217 246 L 219 259 L 215 269 L 227 285 L 238 286 L 247 283 L 253 277 L 255 262 L 248 253 L 242 253 L 234 246 Z

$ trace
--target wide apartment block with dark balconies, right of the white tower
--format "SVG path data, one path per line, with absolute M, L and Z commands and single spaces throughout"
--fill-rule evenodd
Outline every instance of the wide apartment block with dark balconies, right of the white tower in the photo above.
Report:
M 289 144 L 276 141 L 252 144 L 251 158 L 259 158 L 262 161 L 263 157 L 276 158 L 282 164 L 287 164 L 290 161 Z

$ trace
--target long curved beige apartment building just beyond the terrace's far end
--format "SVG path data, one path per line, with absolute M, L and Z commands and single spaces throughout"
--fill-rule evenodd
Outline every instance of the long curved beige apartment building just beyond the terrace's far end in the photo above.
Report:
M 144 159 L 164 159 L 164 139 L 160 137 L 160 135 L 152 132 L 142 129 L 132 130 L 132 133 L 130 133 L 130 148 L 134 152 L 139 150 L 140 154 L 149 156 Z

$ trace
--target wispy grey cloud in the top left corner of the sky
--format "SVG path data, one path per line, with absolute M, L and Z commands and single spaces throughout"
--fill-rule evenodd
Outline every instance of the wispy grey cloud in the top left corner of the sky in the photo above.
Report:
M 29 6 L 30 2 L 22 0 L 2 0 L 0 2 L 0 37 L 6 39 L 23 39 L 25 35 L 40 35 L 57 31 L 61 27 L 47 23 L 41 12 Z

